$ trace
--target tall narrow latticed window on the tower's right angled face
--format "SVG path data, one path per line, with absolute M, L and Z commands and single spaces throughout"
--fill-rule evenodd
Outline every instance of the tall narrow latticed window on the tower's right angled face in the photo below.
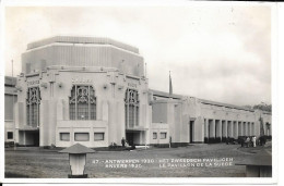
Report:
M 138 91 L 127 89 L 126 91 L 126 126 L 131 128 L 139 125 L 139 96 Z

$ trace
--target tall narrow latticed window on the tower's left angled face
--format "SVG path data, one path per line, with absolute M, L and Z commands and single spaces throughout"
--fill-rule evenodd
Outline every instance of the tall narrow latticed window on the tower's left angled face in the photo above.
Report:
M 39 104 L 40 92 L 39 87 L 29 87 L 27 89 L 26 99 L 26 123 L 33 127 L 39 126 Z

